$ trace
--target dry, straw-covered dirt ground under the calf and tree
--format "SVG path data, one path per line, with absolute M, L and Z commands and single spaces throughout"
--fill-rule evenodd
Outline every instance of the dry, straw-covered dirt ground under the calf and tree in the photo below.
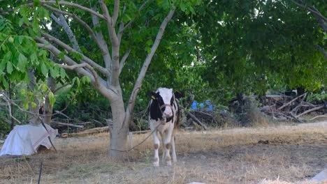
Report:
M 133 144 L 147 135 L 134 135 Z M 108 160 L 108 134 L 56 139 L 58 153 L 0 158 L 0 183 L 314 183 L 327 168 L 327 121 L 177 135 L 173 167 L 152 167 L 152 138 Z M 327 183 L 327 182 L 326 182 Z

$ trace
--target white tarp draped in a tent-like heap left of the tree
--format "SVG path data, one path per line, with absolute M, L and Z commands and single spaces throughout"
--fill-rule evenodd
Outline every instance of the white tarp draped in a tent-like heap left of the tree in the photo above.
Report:
M 34 125 L 16 125 L 11 130 L 6 141 L 4 142 L 1 155 L 32 155 L 37 153 L 38 146 L 43 145 L 48 149 L 51 143 L 48 139 L 53 140 L 58 134 L 58 130 L 54 130 L 50 125 L 45 124 L 48 129 L 45 130 L 42 124 Z

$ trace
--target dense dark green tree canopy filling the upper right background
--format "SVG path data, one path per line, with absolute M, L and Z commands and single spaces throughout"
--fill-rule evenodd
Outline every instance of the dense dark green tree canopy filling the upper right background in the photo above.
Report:
M 324 14 L 326 3 L 314 2 Z M 326 45 L 324 33 L 295 3 L 204 1 L 200 9 L 189 21 L 201 35 L 203 77 L 212 86 L 229 84 L 237 95 L 263 94 L 276 82 L 309 90 L 326 84 L 326 59 L 314 46 Z

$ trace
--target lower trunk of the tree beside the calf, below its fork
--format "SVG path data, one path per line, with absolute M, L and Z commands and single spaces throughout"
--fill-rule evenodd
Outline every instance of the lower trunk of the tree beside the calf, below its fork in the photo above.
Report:
M 109 125 L 110 148 L 109 158 L 112 160 L 124 160 L 127 155 L 127 135 L 129 135 L 129 124 L 124 123 L 125 110 L 122 96 L 110 102 L 112 110 L 112 125 Z

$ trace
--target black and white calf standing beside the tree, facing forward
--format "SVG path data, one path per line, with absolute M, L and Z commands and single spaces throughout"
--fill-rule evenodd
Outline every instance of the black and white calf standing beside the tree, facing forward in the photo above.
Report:
M 162 160 L 171 165 L 170 147 L 173 162 L 177 161 L 175 153 L 175 133 L 179 123 L 180 107 L 177 98 L 181 98 L 180 92 L 173 93 L 173 89 L 159 88 L 151 93 L 151 101 L 147 112 L 154 141 L 154 166 L 159 166 L 159 136 L 161 135 L 163 144 Z

